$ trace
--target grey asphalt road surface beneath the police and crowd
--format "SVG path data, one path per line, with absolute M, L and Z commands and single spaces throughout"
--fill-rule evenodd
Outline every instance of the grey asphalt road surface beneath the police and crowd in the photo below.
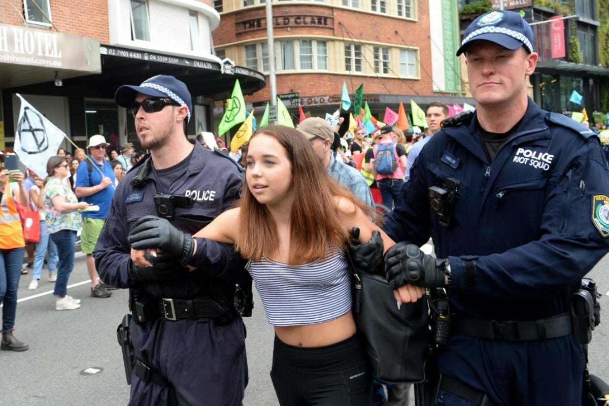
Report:
M 590 345 L 590 370 L 609 380 L 609 257 L 591 272 L 605 309 L 606 323 L 594 331 Z M 107 299 L 89 295 L 90 282 L 82 254 L 69 280 L 68 294 L 82 299 L 78 310 L 57 312 L 53 284 L 47 270 L 37 290 L 27 290 L 30 275 L 19 282 L 15 336 L 29 343 L 26 352 L 0 352 L 2 404 L 17 406 L 126 405 L 125 382 L 116 326 L 127 312 L 127 292 L 114 290 Z M 247 356 L 250 382 L 245 406 L 278 405 L 270 382 L 273 330 L 264 317 L 259 297 L 247 325 Z

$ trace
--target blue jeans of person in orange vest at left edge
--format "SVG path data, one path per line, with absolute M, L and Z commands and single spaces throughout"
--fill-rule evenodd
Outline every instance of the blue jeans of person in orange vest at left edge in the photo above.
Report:
M 17 289 L 23 267 L 26 247 L 0 250 L 0 303 L 2 307 L 2 332 L 8 332 L 15 325 L 17 310 Z

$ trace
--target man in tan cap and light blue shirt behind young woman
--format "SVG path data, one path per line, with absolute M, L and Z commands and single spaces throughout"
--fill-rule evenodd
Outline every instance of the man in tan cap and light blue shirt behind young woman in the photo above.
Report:
M 328 122 L 320 117 L 309 117 L 298 124 L 296 129 L 300 130 L 311 142 L 311 147 L 313 147 L 315 155 L 319 157 L 326 172 L 347 187 L 364 203 L 374 208 L 375 202 L 372 200 L 370 187 L 368 187 L 362 174 L 354 167 L 348 166 L 342 160 L 339 161 L 334 157 L 332 143 L 335 135 Z

